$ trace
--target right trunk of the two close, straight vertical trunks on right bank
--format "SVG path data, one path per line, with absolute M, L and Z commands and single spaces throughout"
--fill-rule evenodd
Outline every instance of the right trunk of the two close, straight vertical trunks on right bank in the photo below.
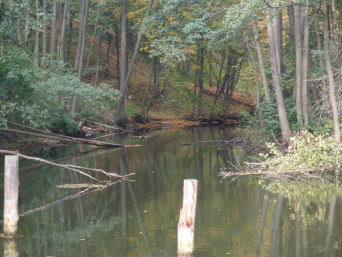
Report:
M 308 49 L 310 47 L 308 34 L 308 4 L 304 7 L 303 16 L 303 62 L 302 62 L 302 112 L 304 126 L 308 126 Z

